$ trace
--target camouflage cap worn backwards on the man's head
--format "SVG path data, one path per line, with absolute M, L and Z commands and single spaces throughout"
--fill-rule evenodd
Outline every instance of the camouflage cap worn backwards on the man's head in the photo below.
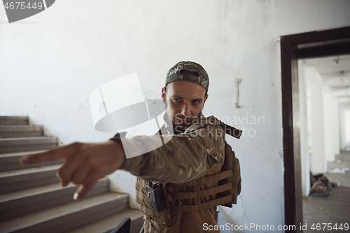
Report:
M 209 76 L 204 68 L 195 62 L 178 62 L 172 69 L 169 69 L 167 73 L 167 80 L 165 80 L 165 86 L 168 83 L 172 83 L 176 80 L 184 80 L 190 83 L 196 83 L 201 85 L 208 91 L 209 89 Z

